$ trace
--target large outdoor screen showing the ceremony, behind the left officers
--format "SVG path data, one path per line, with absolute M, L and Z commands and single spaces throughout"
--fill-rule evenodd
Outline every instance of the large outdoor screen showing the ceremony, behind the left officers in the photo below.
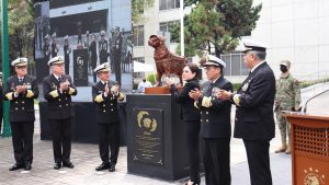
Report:
M 131 92 L 131 0 L 52 0 L 35 4 L 35 62 L 38 82 L 49 74 L 47 62 L 65 58 L 65 72 L 78 86 L 77 101 L 91 101 L 98 81 L 93 69 L 111 65 L 111 80 Z

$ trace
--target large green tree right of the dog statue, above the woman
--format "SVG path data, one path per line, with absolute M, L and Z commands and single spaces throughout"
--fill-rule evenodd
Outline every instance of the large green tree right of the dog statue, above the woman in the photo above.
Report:
M 256 28 L 262 9 L 252 0 L 185 0 L 184 5 L 195 7 L 184 16 L 186 56 L 212 48 L 216 56 L 234 50 L 239 38 Z

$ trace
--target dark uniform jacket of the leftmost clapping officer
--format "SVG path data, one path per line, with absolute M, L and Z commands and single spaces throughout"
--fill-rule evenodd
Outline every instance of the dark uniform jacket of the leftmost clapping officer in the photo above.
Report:
M 23 94 L 14 96 L 18 85 L 26 85 Z M 4 99 L 10 101 L 9 119 L 10 122 L 34 122 L 34 99 L 38 96 L 38 86 L 36 79 L 25 76 L 20 82 L 18 76 L 12 76 L 7 80 L 4 89 Z

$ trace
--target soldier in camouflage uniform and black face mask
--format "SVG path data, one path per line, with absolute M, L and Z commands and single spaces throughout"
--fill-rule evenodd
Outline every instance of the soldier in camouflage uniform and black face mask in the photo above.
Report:
M 275 153 L 285 152 L 291 153 L 290 141 L 290 124 L 285 117 L 282 116 L 282 111 L 299 111 L 300 104 L 300 88 L 299 82 L 295 79 L 291 72 L 291 61 L 283 60 L 280 63 L 280 70 L 282 71 L 280 79 L 276 81 L 276 94 L 275 94 L 275 113 L 276 123 L 280 128 L 282 146 L 275 150 Z M 286 136 L 288 142 L 286 143 Z

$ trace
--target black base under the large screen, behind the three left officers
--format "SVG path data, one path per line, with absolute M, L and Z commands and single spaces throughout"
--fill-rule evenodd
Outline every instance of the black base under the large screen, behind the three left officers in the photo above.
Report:
M 72 119 L 73 142 L 98 143 L 99 131 L 95 123 L 95 105 L 92 102 L 75 102 L 75 116 Z M 126 146 L 126 114 L 125 103 L 120 103 L 121 146 Z M 47 102 L 39 102 L 41 139 L 50 140 L 52 130 L 48 123 Z

